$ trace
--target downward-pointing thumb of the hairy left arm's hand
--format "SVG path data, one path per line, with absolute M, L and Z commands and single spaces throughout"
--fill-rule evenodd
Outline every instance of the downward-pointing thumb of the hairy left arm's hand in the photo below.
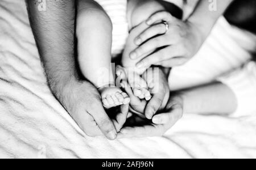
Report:
M 117 138 L 115 126 L 108 114 L 106 114 L 102 104 L 94 101 L 91 107 L 92 109 L 90 109 L 88 113 L 92 115 L 102 133 L 110 140 Z

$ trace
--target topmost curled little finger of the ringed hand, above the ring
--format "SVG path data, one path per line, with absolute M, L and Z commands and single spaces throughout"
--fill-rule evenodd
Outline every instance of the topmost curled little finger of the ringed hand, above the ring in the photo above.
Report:
M 164 20 L 164 21 L 166 21 L 168 23 L 171 23 L 172 20 L 174 20 L 174 19 L 175 19 L 175 17 L 172 16 L 170 14 L 170 12 L 160 11 L 160 12 L 156 12 L 155 14 L 151 15 L 150 18 L 148 18 L 146 20 L 146 23 L 148 25 L 152 25 L 152 24 L 154 24 L 156 22 L 159 22 L 159 21 L 162 21 L 162 20 Z

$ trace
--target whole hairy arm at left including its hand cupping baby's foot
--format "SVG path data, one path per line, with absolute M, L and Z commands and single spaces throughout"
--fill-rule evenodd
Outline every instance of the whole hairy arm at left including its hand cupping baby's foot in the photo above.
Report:
M 43 12 L 38 10 L 34 1 L 26 2 L 52 93 L 86 134 L 96 136 L 103 133 L 109 139 L 115 139 L 119 126 L 126 120 L 128 107 L 123 106 L 117 121 L 110 120 L 96 88 L 77 78 L 74 45 L 76 2 L 47 0 L 47 10 Z

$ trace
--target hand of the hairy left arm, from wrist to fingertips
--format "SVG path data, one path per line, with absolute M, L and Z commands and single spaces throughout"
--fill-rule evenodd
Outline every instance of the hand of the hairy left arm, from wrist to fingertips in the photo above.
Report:
M 103 133 L 108 139 L 115 139 L 129 111 L 129 105 L 123 105 L 115 120 L 110 120 L 102 106 L 97 89 L 85 81 L 71 81 L 57 98 L 80 128 L 92 137 Z

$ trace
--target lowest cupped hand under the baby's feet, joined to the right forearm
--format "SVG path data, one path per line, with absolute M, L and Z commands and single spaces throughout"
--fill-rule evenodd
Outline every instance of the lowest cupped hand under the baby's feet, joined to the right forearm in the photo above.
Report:
M 179 96 L 171 97 L 168 101 L 166 111 L 156 114 L 152 122 L 143 120 L 141 117 L 130 118 L 126 123 L 130 127 L 123 128 L 118 134 L 118 138 L 160 137 L 172 128 L 182 116 L 183 99 Z

